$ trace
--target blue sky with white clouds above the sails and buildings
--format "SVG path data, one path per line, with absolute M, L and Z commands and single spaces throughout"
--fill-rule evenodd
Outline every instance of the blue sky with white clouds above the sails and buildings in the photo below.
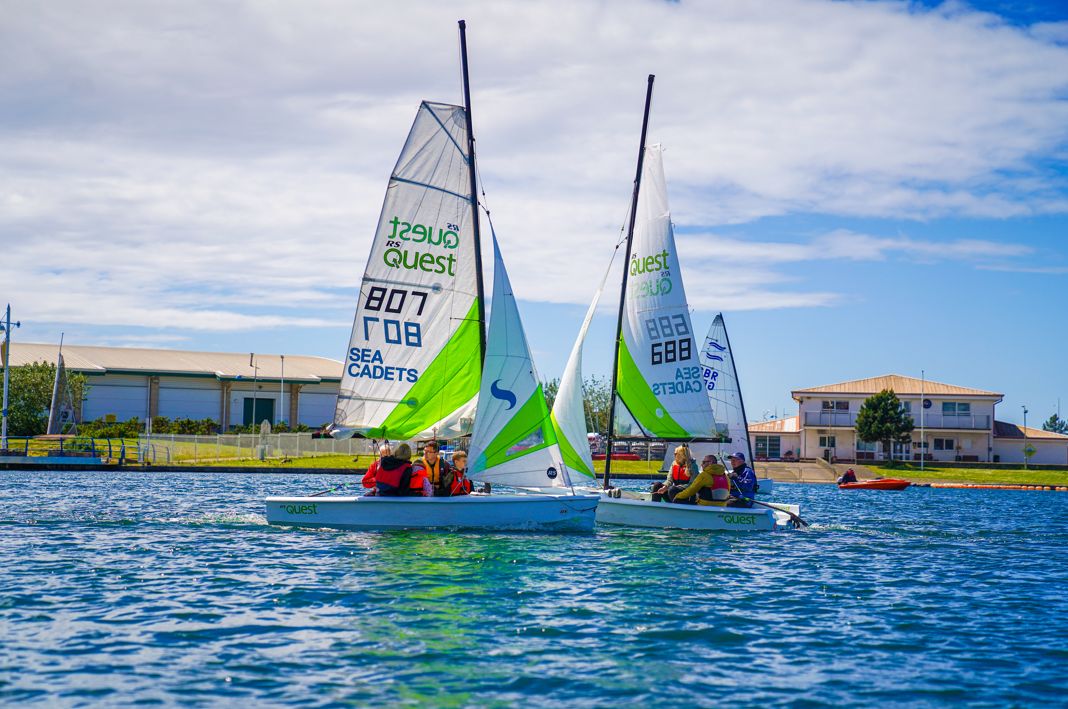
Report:
M 482 183 L 544 379 L 623 227 L 655 74 L 694 327 L 724 313 L 750 419 L 922 372 L 1004 393 L 1000 420 L 1068 411 L 1063 2 L 3 9 L 0 305 L 22 341 L 342 359 L 415 109 L 461 103 L 466 18 Z

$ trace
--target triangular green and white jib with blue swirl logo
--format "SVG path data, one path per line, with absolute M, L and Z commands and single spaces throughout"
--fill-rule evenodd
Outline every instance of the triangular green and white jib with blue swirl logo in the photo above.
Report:
M 470 476 L 514 487 L 569 487 L 496 234 L 490 304 Z

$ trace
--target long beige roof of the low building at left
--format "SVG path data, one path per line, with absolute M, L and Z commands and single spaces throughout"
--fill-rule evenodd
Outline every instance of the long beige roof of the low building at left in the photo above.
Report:
M 11 365 L 33 362 L 54 362 L 59 345 L 40 343 L 11 344 Z M 87 374 L 108 372 L 144 373 L 153 375 L 186 375 L 218 379 L 280 379 L 282 359 L 279 354 L 256 354 L 256 367 L 249 365 L 248 352 L 193 352 L 182 349 L 147 349 L 141 347 L 91 347 L 63 345 L 63 361 L 68 369 Z M 285 356 L 285 380 L 295 383 L 340 381 L 342 363 L 326 357 Z

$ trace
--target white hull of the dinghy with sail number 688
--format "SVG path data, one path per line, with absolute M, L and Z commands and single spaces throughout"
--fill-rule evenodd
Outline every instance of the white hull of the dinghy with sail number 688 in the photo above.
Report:
M 776 513 L 767 507 L 678 505 L 602 497 L 597 505 L 597 522 L 672 530 L 769 532 L 775 529 L 779 520 Z

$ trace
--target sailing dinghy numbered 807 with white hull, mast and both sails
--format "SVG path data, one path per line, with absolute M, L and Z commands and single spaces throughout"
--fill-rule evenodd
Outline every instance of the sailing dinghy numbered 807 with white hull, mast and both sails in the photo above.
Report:
M 465 29 L 461 21 L 465 106 L 424 101 L 390 177 L 333 431 L 411 440 L 455 438 L 473 428 L 469 476 L 529 491 L 267 498 L 271 524 L 593 529 L 598 495 L 570 487 L 496 236 L 485 332 Z

